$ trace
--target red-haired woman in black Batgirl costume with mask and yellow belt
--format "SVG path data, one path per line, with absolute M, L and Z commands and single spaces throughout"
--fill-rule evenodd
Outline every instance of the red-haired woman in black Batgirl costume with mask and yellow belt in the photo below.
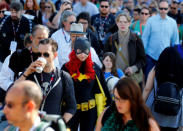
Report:
M 80 131 L 93 131 L 97 120 L 95 94 L 100 93 L 97 77 L 107 97 L 107 105 L 111 98 L 104 76 L 100 68 L 92 62 L 90 43 L 85 37 L 76 39 L 74 50 L 70 53 L 70 61 L 62 69 L 68 72 L 74 82 L 77 111 L 68 123 L 71 131 L 76 131 L 80 124 Z M 107 106 L 106 105 L 106 106 Z

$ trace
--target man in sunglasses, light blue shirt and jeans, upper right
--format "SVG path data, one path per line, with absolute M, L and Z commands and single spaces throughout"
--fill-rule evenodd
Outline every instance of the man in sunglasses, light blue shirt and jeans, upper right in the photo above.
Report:
M 156 65 L 161 52 L 169 46 L 179 44 L 177 23 L 167 16 L 167 0 L 159 2 L 159 13 L 148 19 L 142 40 L 146 52 L 145 80 L 149 71 Z

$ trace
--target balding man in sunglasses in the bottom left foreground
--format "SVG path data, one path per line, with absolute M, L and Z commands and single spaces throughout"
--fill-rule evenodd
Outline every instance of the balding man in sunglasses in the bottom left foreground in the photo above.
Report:
M 39 107 L 42 102 L 41 89 L 31 81 L 22 81 L 15 84 L 6 95 L 4 114 L 9 125 L 6 129 L 11 131 L 33 131 L 43 125 L 39 117 Z M 43 125 L 41 125 L 43 124 Z M 13 125 L 13 126 L 12 126 Z M 47 127 L 45 131 L 54 131 Z

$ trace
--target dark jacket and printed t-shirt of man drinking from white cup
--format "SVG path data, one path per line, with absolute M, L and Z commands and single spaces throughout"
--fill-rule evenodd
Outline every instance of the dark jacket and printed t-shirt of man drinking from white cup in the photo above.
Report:
M 60 73 L 60 74 L 59 74 Z M 59 81 L 60 77 L 60 81 Z M 53 80 L 52 80 L 53 79 Z M 66 107 L 64 112 L 74 114 L 76 111 L 76 100 L 74 86 L 70 75 L 63 71 L 52 71 L 50 73 L 33 73 L 27 77 L 41 86 L 43 102 L 41 108 L 48 114 L 61 115 L 61 103 L 64 101 Z M 56 84 L 58 82 L 58 84 Z M 45 102 L 44 102 L 45 101 Z

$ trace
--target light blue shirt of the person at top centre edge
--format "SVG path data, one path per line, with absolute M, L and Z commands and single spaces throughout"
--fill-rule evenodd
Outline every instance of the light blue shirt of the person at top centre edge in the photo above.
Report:
M 76 3 L 73 7 L 73 12 L 76 13 L 76 15 L 79 15 L 81 12 L 88 12 L 90 16 L 93 16 L 99 13 L 96 5 L 94 5 L 89 1 L 86 3 L 85 6 L 83 6 L 81 2 Z

